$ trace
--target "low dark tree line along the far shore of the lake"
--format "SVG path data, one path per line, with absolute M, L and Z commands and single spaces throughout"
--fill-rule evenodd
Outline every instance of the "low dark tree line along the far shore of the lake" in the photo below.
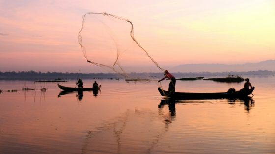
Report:
M 163 73 L 130 73 L 131 76 L 135 77 L 150 77 L 159 78 L 163 76 Z M 268 70 L 258 70 L 258 71 L 247 71 L 247 72 L 176 72 L 173 73 L 176 78 L 181 77 L 198 77 L 198 76 L 228 76 L 228 75 L 275 75 L 275 71 Z M 1 72 L 0 80 L 45 80 L 45 79 L 113 79 L 122 78 L 116 73 L 69 73 L 69 72 L 41 72 L 41 71 L 11 71 L 11 72 Z

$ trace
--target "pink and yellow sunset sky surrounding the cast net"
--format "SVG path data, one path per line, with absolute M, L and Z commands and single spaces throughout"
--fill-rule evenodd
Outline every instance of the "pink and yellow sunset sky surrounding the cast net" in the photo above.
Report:
M 86 12 L 129 19 L 164 68 L 275 59 L 275 0 L 0 0 L 0 71 L 100 72 L 78 44 Z

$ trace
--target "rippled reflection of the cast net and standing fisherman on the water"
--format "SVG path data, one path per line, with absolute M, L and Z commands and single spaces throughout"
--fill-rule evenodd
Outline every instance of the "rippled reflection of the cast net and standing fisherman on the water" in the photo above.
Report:
M 169 112 L 166 110 L 167 105 Z M 166 138 L 166 133 L 176 118 L 174 101 L 161 100 L 158 109 L 158 112 L 148 109 L 127 110 L 121 116 L 87 131 L 82 154 L 153 153 L 158 143 Z

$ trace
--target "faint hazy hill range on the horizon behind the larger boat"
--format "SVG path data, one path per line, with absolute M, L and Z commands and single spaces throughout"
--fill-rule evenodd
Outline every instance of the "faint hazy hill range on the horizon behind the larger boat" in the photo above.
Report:
M 170 72 L 230 72 L 230 71 L 275 71 L 275 60 L 245 64 L 183 64 L 170 69 Z

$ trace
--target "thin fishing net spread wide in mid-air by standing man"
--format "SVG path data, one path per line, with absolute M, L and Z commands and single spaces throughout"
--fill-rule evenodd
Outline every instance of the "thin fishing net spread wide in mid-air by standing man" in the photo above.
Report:
M 165 69 L 135 39 L 131 21 L 108 13 L 83 15 L 79 44 L 87 62 L 125 79 L 151 80 Z

